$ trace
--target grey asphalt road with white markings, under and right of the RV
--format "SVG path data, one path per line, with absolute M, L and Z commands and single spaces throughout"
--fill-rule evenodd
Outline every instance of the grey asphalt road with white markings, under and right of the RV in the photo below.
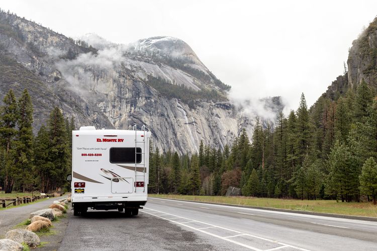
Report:
M 377 250 L 377 222 L 149 198 L 69 216 L 59 250 Z

